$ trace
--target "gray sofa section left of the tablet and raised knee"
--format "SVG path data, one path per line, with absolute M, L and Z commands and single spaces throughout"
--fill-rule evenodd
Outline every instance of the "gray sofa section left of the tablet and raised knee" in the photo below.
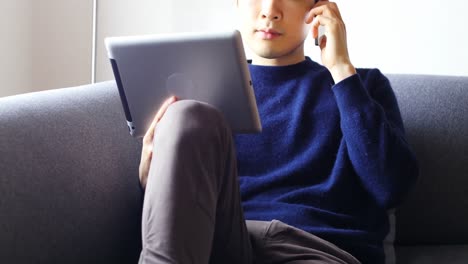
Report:
M 0 263 L 137 263 L 140 149 L 113 82 L 0 98 Z

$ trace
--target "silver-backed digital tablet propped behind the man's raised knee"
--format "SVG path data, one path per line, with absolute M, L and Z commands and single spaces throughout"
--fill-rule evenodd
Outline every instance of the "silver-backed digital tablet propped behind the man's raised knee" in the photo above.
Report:
M 237 30 L 105 39 L 130 134 L 142 137 L 171 95 L 218 108 L 233 133 L 260 132 Z

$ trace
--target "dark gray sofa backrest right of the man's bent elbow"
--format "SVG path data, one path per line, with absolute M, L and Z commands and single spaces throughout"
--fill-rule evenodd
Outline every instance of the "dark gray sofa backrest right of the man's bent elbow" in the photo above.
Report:
M 420 165 L 396 243 L 468 244 L 468 77 L 388 77 Z

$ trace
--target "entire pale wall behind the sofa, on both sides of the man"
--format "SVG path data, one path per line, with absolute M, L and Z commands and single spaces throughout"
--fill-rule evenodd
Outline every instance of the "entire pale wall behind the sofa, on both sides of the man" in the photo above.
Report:
M 234 2 L 98 0 L 97 81 L 113 79 L 105 37 L 233 28 Z M 467 1 L 336 2 L 356 66 L 468 76 Z M 0 96 L 89 83 L 91 40 L 92 0 L 0 0 Z

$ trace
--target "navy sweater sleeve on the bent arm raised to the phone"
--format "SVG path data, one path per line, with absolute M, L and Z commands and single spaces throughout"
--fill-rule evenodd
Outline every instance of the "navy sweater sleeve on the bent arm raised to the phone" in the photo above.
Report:
M 333 86 L 351 163 L 377 204 L 389 209 L 405 198 L 418 175 L 397 100 L 379 70 Z

